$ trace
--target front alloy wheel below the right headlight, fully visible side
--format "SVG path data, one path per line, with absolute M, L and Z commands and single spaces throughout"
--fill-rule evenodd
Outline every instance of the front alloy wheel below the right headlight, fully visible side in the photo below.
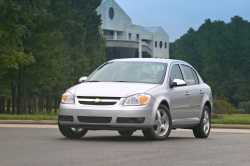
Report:
M 159 118 L 160 117 L 160 118 Z M 172 119 L 168 107 L 160 105 L 156 112 L 155 123 L 153 127 L 144 129 L 143 135 L 149 140 L 165 140 L 172 130 Z

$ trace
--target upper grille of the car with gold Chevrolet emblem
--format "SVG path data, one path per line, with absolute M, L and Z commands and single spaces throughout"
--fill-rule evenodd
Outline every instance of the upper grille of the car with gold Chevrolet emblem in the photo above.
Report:
M 82 105 L 115 105 L 121 98 L 120 97 L 89 97 L 77 96 L 78 102 Z

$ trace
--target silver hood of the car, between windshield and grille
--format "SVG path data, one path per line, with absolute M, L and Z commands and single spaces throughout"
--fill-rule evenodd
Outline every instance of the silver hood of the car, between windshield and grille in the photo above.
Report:
M 128 97 L 137 93 L 145 93 L 156 86 L 158 84 L 86 82 L 72 87 L 69 91 L 76 96 Z

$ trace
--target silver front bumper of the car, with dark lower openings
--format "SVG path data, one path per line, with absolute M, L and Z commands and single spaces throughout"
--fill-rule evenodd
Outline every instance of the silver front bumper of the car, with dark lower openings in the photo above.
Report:
M 153 105 L 87 106 L 61 104 L 60 125 L 90 130 L 143 129 L 154 125 Z

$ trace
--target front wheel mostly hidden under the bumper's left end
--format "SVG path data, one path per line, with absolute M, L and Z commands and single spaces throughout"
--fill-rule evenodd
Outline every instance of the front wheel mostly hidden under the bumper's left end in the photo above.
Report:
M 58 124 L 58 128 L 61 134 L 69 139 L 80 139 L 88 132 L 88 130 L 83 128 L 68 127 L 61 124 Z

